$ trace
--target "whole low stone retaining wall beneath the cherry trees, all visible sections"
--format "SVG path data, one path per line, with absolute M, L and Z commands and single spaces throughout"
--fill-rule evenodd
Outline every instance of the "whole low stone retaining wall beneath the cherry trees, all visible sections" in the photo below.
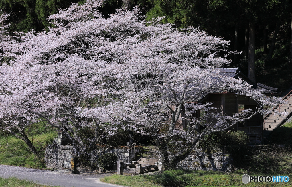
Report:
M 71 157 L 76 156 L 73 146 L 70 146 L 70 141 L 64 137 L 62 133 L 55 138 L 54 145 L 48 145 L 45 152 L 45 162 L 47 168 L 70 168 Z M 57 144 L 57 145 L 56 145 Z M 98 158 L 105 153 L 114 153 L 118 160 L 124 163 L 132 163 L 138 159 L 138 155 L 143 153 L 143 149 L 130 149 L 129 147 L 108 147 L 100 148 L 92 151 L 90 157 L 90 164 L 99 167 Z M 169 154 L 170 159 L 175 154 Z M 160 157 L 160 156 L 159 156 Z M 135 159 L 136 158 L 136 159 Z M 159 169 L 161 169 L 161 162 L 157 162 Z M 222 151 L 195 149 L 184 160 L 180 161 L 177 167 L 191 170 L 214 170 L 214 171 L 230 171 L 231 158 L 228 154 Z

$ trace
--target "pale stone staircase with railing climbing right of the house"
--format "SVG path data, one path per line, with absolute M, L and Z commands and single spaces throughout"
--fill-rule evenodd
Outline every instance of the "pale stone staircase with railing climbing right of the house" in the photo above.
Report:
M 282 99 L 288 104 L 279 104 L 273 110 L 278 112 L 288 112 L 287 115 L 279 116 L 275 112 L 271 112 L 264 117 L 264 137 L 269 135 L 275 128 L 277 128 L 286 118 L 291 116 L 292 112 L 292 90 Z

